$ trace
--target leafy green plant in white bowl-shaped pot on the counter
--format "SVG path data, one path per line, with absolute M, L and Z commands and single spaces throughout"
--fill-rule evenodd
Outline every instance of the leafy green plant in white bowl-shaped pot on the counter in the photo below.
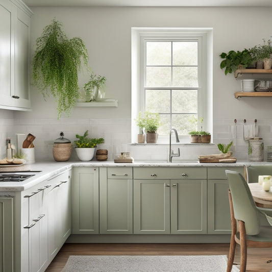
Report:
M 93 158 L 95 147 L 97 144 L 104 143 L 103 138 L 89 138 L 88 130 L 84 135 L 76 135 L 78 140 L 73 141 L 76 145 L 76 152 L 81 161 L 90 161 Z

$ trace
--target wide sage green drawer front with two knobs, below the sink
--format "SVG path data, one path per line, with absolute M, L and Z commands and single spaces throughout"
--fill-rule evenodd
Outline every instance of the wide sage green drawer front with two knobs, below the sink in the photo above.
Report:
M 134 179 L 207 179 L 206 167 L 134 167 Z

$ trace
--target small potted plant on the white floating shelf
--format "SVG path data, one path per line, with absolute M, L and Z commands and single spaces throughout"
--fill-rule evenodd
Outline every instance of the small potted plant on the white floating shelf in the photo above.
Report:
M 83 87 L 86 97 L 85 101 L 96 101 L 98 97 L 98 91 L 105 93 L 106 81 L 107 79 L 105 77 L 102 77 L 100 75 L 97 76 L 95 75 L 95 73 L 92 73 L 90 75 L 89 81 L 85 83 Z

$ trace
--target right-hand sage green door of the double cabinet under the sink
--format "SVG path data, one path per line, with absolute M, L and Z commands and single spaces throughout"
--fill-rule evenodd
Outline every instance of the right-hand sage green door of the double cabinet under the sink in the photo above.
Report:
M 171 234 L 207 233 L 207 180 L 171 180 Z

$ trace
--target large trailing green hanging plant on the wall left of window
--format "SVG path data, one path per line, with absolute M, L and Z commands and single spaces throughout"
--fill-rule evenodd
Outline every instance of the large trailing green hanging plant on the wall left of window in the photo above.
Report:
M 62 23 L 56 19 L 43 29 L 36 40 L 33 57 L 33 84 L 44 98 L 51 94 L 58 100 L 58 118 L 70 115 L 79 97 L 78 71 L 88 66 L 88 52 L 79 37 L 68 39 Z

